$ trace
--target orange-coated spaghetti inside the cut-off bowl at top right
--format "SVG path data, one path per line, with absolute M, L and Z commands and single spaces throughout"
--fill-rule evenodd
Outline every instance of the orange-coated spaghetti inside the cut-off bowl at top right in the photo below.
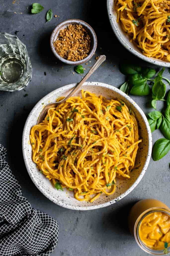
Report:
M 117 22 L 147 57 L 170 61 L 170 1 L 115 0 Z

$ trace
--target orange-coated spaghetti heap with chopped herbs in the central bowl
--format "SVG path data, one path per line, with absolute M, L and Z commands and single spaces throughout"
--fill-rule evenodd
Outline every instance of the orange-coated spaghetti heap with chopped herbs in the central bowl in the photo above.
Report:
M 32 127 L 30 141 L 33 161 L 54 186 L 90 202 L 113 194 L 116 177 L 130 178 L 141 142 L 135 115 L 124 102 L 83 90 L 82 98 L 50 108 Z

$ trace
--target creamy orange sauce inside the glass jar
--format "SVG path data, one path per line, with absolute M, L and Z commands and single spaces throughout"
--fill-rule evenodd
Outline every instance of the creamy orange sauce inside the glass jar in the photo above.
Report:
M 170 217 L 164 212 L 148 214 L 140 223 L 139 237 L 149 248 L 164 249 L 165 242 L 170 243 Z

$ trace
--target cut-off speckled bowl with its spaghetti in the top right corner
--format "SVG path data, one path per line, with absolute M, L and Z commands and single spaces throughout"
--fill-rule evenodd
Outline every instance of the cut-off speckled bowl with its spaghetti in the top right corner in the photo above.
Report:
M 132 54 L 170 67 L 170 8 L 166 1 L 107 0 L 111 27 Z

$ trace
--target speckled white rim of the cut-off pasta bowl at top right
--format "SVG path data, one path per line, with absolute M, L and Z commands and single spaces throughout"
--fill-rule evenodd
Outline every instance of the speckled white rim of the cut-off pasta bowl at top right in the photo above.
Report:
M 113 20 L 113 0 L 107 0 L 107 10 L 108 10 L 108 16 L 109 16 L 109 20 L 110 20 L 110 24 L 111 27 L 114 31 L 115 36 L 117 37 L 117 39 L 121 42 L 121 44 L 128 50 L 130 51 L 132 54 L 136 55 L 137 57 L 139 57 L 142 60 L 145 60 L 147 62 L 150 62 L 154 65 L 158 65 L 161 67 L 170 67 L 170 62 L 166 62 L 166 61 L 158 61 L 155 58 L 149 58 L 143 54 L 141 54 L 140 52 L 136 51 L 132 46 L 130 46 L 129 44 L 127 44 L 127 42 L 123 39 L 123 37 L 121 36 L 121 34 L 119 33 L 119 31 L 117 30 L 115 24 L 114 24 L 114 20 Z M 122 33 L 124 31 L 122 30 Z

